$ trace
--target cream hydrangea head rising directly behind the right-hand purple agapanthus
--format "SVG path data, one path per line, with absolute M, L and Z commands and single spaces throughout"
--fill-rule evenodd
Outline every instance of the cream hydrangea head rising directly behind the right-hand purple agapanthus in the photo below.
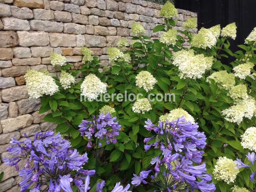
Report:
M 173 109 L 170 111 L 170 113 L 164 114 L 159 117 L 159 121 L 166 122 L 168 119 L 168 122 L 176 121 L 178 118 L 184 116 L 186 118 L 186 121 L 190 121 L 191 124 L 195 124 L 195 119 L 192 117 L 187 111 L 185 111 L 182 108 Z

